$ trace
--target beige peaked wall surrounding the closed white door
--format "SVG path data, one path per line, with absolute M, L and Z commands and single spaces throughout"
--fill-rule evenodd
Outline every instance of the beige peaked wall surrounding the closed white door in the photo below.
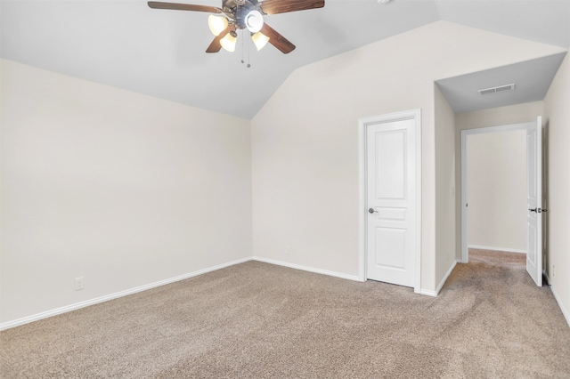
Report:
M 421 287 L 434 291 L 434 81 L 561 51 L 438 21 L 297 69 L 252 120 L 254 254 L 358 275 L 357 120 L 419 108 Z

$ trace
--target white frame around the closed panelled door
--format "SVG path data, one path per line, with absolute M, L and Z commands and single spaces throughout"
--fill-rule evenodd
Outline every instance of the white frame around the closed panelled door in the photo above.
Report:
M 380 123 L 389 123 L 403 120 L 414 120 L 416 129 L 416 246 L 414 248 L 414 286 L 413 291 L 420 293 L 421 291 L 421 109 L 404 110 L 401 112 L 388 113 L 385 115 L 362 117 L 358 119 L 358 181 L 359 181 L 359 211 L 358 211 L 358 231 L 359 246 L 358 260 L 359 270 L 358 278 L 360 281 L 366 281 L 367 277 L 367 230 L 368 230 L 368 208 L 366 199 L 368 194 L 368 178 L 367 178 L 367 126 Z

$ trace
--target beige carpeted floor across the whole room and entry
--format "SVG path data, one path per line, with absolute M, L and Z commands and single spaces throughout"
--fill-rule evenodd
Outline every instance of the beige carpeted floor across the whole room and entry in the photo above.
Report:
M 570 327 L 522 254 L 437 298 L 247 262 L 0 333 L 4 378 L 568 378 Z

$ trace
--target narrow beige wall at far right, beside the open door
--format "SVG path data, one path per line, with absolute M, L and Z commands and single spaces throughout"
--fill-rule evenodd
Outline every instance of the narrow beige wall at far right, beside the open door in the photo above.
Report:
M 562 62 L 544 99 L 548 124 L 547 272 L 570 324 L 570 59 Z M 554 272 L 553 268 L 556 269 Z

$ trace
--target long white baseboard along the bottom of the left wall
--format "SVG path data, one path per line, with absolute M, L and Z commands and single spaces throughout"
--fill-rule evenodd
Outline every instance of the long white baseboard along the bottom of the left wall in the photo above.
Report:
M 242 258 L 242 259 L 239 259 L 236 261 L 219 264 L 219 265 L 213 266 L 213 267 L 208 267 L 208 269 L 190 272 L 188 274 L 183 274 L 183 275 L 177 276 L 175 278 L 168 278 L 168 279 L 160 280 L 158 282 L 154 282 L 154 283 L 151 283 L 148 285 L 137 286 L 137 287 L 134 287 L 131 289 L 126 289 L 125 291 L 117 292 L 115 294 L 107 294 L 107 295 L 104 295 L 101 297 L 96 297 L 96 298 L 91 299 L 91 300 L 86 300 L 85 302 L 76 302 L 75 304 L 66 305 L 64 307 L 56 308 L 54 310 L 46 310 L 45 312 L 40 312 L 40 313 L 37 313 L 35 315 L 27 316 L 27 317 L 24 317 L 21 319 L 14 319 L 12 321 L 3 322 L 0 324 L 0 330 L 9 329 L 11 327 L 20 327 L 20 325 L 28 324 L 28 323 L 33 322 L 33 321 L 37 321 L 40 319 L 47 319 L 48 317 L 56 316 L 56 315 L 59 315 L 61 313 L 66 313 L 66 312 L 69 312 L 71 310 L 78 310 L 81 308 L 88 307 L 90 305 L 98 304 L 100 302 L 107 302 L 109 300 L 117 299 L 118 297 L 123 297 L 123 296 L 129 295 L 129 294 L 136 294 L 137 292 L 142 292 L 142 291 L 145 291 L 147 289 L 151 289 L 151 288 L 154 288 L 157 286 L 165 286 L 167 284 L 174 283 L 174 282 L 177 282 L 177 281 L 180 281 L 183 279 L 197 277 L 199 275 L 206 274 L 206 273 L 211 272 L 211 271 L 224 269 L 226 267 L 233 266 L 234 264 L 240 264 L 240 263 L 248 262 L 248 261 L 251 261 L 251 257 Z

